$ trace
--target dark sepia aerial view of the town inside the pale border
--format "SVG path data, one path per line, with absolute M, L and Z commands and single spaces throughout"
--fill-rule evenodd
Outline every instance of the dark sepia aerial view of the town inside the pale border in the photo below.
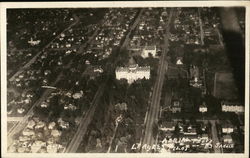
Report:
M 6 9 L 7 152 L 244 153 L 245 14 Z

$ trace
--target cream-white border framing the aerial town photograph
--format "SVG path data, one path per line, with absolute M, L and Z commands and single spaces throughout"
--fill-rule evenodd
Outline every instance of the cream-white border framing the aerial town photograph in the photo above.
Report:
M 107 7 L 245 7 L 245 147 L 244 153 L 230 154 L 107 154 L 107 153 L 7 153 L 7 38 L 6 38 L 6 11 L 9 8 L 107 8 Z M 249 157 L 249 49 L 250 49 L 250 3 L 249 1 L 106 1 L 106 2 L 4 2 L 0 3 L 1 23 L 1 154 L 2 157 Z

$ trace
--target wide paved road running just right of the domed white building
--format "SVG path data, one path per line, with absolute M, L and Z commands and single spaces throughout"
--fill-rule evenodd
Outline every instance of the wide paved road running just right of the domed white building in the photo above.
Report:
M 153 89 L 153 95 L 152 95 L 152 100 L 151 100 L 151 105 L 149 109 L 149 113 L 147 116 L 147 122 L 146 122 L 146 130 L 145 130 L 145 135 L 144 135 L 144 140 L 143 140 L 143 145 L 147 144 L 152 146 L 154 144 L 154 138 L 152 135 L 153 132 L 153 126 L 155 123 L 158 122 L 158 115 L 159 115 L 159 109 L 160 109 L 160 98 L 161 98 L 161 90 L 163 86 L 163 81 L 165 78 L 165 72 L 166 68 L 168 66 L 168 63 L 165 60 L 166 54 L 168 52 L 168 39 L 169 39 L 169 25 L 172 19 L 173 15 L 173 9 L 171 9 L 169 18 L 168 18 L 168 23 L 167 23 L 167 28 L 166 28 L 166 33 L 164 34 L 164 46 L 163 46 L 163 52 L 162 56 L 160 58 L 159 62 L 159 68 L 157 72 L 157 78 L 156 82 L 154 85 Z M 146 151 L 145 149 L 142 149 L 142 152 L 149 152 Z

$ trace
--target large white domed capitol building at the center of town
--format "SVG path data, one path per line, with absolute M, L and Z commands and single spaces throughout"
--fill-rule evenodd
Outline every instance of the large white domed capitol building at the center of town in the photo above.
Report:
M 133 58 L 130 58 L 127 67 L 117 67 L 115 70 L 116 79 L 126 79 L 129 84 L 133 83 L 138 79 L 149 79 L 150 78 L 150 66 L 138 66 Z

